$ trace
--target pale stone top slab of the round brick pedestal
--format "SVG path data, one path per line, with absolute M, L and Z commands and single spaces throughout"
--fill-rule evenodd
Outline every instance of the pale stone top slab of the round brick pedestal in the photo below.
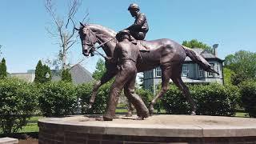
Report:
M 250 137 L 256 135 L 255 118 L 220 116 L 154 115 L 138 121 L 117 116 L 113 121 L 95 121 L 97 115 L 41 118 L 39 129 L 83 134 L 114 134 L 153 137 Z

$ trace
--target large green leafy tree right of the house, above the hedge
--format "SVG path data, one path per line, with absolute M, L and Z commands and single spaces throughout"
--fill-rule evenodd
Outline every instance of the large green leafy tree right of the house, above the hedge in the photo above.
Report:
M 245 78 L 256 78 L 256 53 L 239 50 L 235 54 L 227 55 L 224 65 L 238 74 L 239 78 L 242 75 Z

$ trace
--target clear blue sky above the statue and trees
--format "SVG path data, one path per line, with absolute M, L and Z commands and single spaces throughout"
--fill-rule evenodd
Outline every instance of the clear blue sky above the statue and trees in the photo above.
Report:
M 63 15 L 66 1 L 58 0 L 58 14 Z M 136 2 L 149 22 L 146 39 L 170 38 L 182 43 L 193 38 L 212 46 L 218 43 L 218 56 L 225 58 L 238 50 L 256 52 L 255 0 L 83 0 L 77 22 L 86 10 L 90 23 L 122 30 L 134 22 L 127 7 Z M 38 60 L 54 58 L 58 45 L 46 32 L 51 22 L 43 0 L 1 0 L 0 2 L 1 58 L 6 58 L 10 73 L 35 69 Z M 69 54 L 69 62 L 82 59 L 78 43 Z M 82 65 L 93 72 L 99 56 L 86 58 Z

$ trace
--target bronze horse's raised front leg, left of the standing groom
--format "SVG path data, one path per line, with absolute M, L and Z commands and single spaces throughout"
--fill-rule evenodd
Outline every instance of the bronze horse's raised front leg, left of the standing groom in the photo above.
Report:
M 110 79 L 113 78 L 115 74 L 117 74 L 116 70 L 113 70 L 113 71 L 106 70 L 106 72 L 103 74 L 102 78 L 94 84 L 94 89 L 93 89 L 93 92 L 90 96 L 90 103 L 88 105 L 89 109 L 94 104 L 96 94 L 98 93 L 98 89 L 102 85 L 104 85 L 106 82 L 109 82 Z

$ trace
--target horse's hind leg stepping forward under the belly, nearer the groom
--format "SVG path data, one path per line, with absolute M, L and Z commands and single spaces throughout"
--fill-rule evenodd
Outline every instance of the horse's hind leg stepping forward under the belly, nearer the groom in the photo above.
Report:
M 150 102 L 150 115 L 154 113 L 154 104 L 157 102 L 158 98 L 161 98 L 163 94 L 169 89 L 169 81 L 171 76 L 171 69 L 162 68 L 162 87 L 158 95 Z

